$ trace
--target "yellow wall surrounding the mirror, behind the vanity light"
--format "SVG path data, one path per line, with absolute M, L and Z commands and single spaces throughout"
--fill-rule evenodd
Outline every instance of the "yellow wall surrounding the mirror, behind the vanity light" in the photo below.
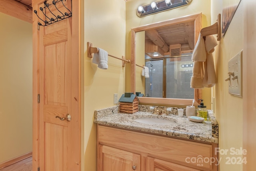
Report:
M 211 6 L 210 0 L 193 0 L 188 6 L 175 8 L 165 12 L 160 12 L 150 16 L 139 18 L 136 15 L 136 10 L 140 5 L 150 4 L 152 0 L 129 0 L 126 2 L 126 56 L 130 59 L 131 54 L 131 28 L 144 26 L 146 24 L 152 24 L 172 18 L 179 18 L 182 16 L 199 14 L 202 12 L 202 27 L 210 26 L 211 24 Z M 126 91 L 131 90 L 130 85 L 130 69 L 126 68 Z M 136 67 L 136 70 L 139 69 Z M 137 72 L 137 71 L 136 71 Z M 137 78 L 137 80 L 139 80 Z M 205 88 L 202 90 L 202 98 L 204 99 L 204 105 L 208 109 L 211 109 L 211 89 Z

